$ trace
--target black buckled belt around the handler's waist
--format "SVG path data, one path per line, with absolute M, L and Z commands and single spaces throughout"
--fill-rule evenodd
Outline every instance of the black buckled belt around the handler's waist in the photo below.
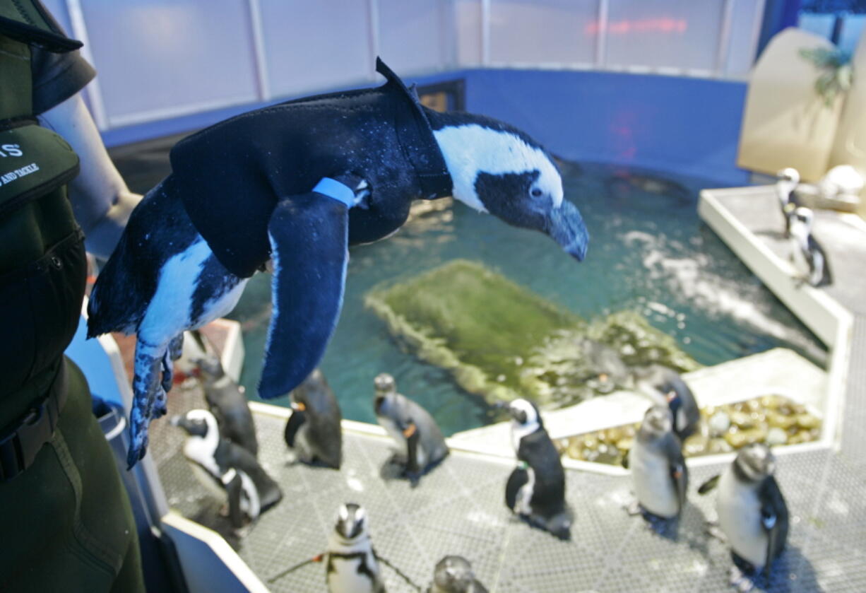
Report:
M 51 440 L 66 397 L 66 364 L 61 362 L 48 395 L 0 435 L 0 483 L 26 470 L 36 459 L 36 453 Z

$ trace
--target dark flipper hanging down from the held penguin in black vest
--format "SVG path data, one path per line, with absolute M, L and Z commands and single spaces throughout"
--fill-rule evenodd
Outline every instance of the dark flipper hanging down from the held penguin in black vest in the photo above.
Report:
M 348 188 L 346 188 L 348 189 Z M 288 394 L 319 364 L 343 304 L 348 207 L 318 192 L 281 199 L 268 223 L 274 305 L 259 394 Z

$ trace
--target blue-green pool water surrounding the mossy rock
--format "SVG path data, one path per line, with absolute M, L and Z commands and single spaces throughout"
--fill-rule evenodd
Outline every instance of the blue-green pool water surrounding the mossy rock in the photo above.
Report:
M 451 200 L 419 203 L 396 235 L 350 250 L 343 312 L 321 363 L 344 418 L 375 421 L 372 380 L 388 372 L 444 433 L 491 421 L 479 397 L 401 349 L 364 307 L 365 293 L 377 284 L 458 257 L 479 261 L 587 319 L 637 310 L 705 365 L 777 346 L 824 362 L 820 342 L 701 223 L 698 192 L 715 184 L 621 166 L 561 168 L 565 197 L 578 206 L 591 234 L 581 264 L 538 232 Z M 270 317 L 269 275 L 250 280 L 230 317 L 242 323 L 247 355 L 241 381 L 255 399 Z

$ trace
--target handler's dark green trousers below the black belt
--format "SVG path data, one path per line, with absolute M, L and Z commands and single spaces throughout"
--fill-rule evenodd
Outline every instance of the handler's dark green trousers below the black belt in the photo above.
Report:
M 54 438 L 0 484 L 0 591 L 144 591 L 126 490 L 87 381 L 64 361 L 68 400 Z

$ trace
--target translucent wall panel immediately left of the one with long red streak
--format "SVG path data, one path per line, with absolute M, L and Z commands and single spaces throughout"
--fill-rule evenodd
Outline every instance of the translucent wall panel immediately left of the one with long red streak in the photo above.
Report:
M 592 63 L 597 35 L 598 0 L 490 0 L 494 63 Z

